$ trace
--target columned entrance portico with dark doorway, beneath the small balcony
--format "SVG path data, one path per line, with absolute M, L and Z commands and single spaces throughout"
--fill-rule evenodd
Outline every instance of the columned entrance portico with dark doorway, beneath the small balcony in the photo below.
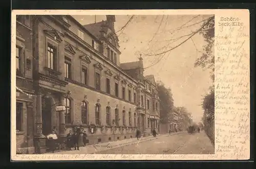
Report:
M 70 92 L 50 92 L 49 89 L 38 90 L 36 96 L 36 135 L 34 136 L 36 153 L 45 153 L 47 149 L 46 135 L 55 127 L 58 139 L 65 139 L 65 98 Z M 42 94 L 41 93 L 45 93 Z

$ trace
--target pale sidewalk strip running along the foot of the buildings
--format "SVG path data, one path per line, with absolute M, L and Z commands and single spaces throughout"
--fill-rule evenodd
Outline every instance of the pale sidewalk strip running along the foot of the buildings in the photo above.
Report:
M 177 133 L 171 133 L 171 134 L 160 134 L 160 135 L 157 135 L 157 137 L 154 137 L 154 136 L 141 137 L 139 140 L 137 140 L 137 138 L 129 138 L 129 139 L 123 139 L 120 141 L 102 142 L 102 143 L 96 143 L 94 145 L 88 145 L 86 147 L 79 147 L 79 151 L 77 150 L 56 151 L 54 153 L 46 153 L 46 154 L 94 154 L 94 153 L 98 153 L 105 150 L 127 146 L 137 142 L 149 141 L 149 140 L 156 139 L 158 137 L 171 136 L 171 135 L 180 134 L 180 133 L 183 133 L 183 132 L 177 132 Z

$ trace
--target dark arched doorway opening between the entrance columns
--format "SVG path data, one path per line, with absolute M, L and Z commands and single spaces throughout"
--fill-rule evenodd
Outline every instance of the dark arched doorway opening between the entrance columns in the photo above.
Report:
M 42 134 L 48 135 L 51 133 L 52 119 L 52 98 L 42 98 Z

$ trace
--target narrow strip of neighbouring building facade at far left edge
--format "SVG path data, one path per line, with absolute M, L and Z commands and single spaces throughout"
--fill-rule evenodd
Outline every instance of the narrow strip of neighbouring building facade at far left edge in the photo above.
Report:
M 16 148 L 17 153 L 33 153 L 32 25 L 30 16 L 16 22 Z

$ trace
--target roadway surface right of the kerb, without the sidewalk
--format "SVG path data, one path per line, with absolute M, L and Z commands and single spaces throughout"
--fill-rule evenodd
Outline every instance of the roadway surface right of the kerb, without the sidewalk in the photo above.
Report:
M 204 132 L 186 132 L 137 142 L 129 146 L 98 152 L 96 154 L 214 154 L 215 149 Z

